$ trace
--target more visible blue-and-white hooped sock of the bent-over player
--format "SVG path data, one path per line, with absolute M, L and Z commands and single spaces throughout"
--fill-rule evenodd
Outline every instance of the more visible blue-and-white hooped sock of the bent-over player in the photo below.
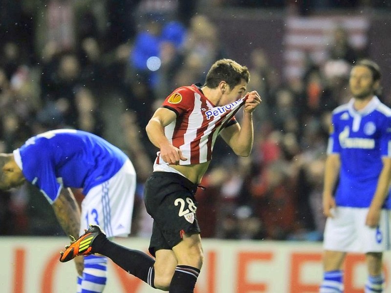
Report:
M 102 293 L 107 280 L 107 258 L 98 255 L 85 256 L 81 279 L 80 293 Z

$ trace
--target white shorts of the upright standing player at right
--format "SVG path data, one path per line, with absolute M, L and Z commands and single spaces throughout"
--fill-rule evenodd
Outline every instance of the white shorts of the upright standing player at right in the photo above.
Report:
M 324 249 L 359 253 L 390 250 L 390 210 L 382 209 L 377 228 L 365 225 L 368 210 L 349 207 L 334 209 L 334 218 L 326 220 Z

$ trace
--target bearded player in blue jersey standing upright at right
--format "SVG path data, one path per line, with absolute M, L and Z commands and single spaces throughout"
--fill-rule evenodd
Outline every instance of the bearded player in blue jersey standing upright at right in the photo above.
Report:
M 344 291 L 347 252 L 365 253 L 365 292 L 383 292 L 382 255 L 390 250 L 391 109 L 375 95 L 380 77 L 376 63 L 355 63 L 349 78 L 353 98 L 332 113 L 323 192 L 327 221 L 321 293 Z

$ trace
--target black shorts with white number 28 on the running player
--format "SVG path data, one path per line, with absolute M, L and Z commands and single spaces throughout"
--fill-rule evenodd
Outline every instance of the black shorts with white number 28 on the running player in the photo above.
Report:
M 149 251 L 172 249 L 183 234 L 199 234 L 195 211 L 197 184 L 180 174 L 153 172 L 147 179 L 144 202 L 147 212 L 153 218 Z

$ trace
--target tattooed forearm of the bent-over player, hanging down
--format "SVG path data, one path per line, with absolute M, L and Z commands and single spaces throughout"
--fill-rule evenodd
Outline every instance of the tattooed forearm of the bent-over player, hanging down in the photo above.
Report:
M 76 199 L 68 188 L 63 188 L 53 203 L 54 213 L 64 232 L 74 238 L 79 237 L 80 209 Z

